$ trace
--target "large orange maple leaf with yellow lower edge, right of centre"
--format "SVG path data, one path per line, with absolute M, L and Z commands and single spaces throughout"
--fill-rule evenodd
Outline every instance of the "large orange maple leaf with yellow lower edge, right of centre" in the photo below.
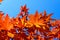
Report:
M 40 15 L 38 14 L 38 11 L 36 11 L 35 15 L 29 15 L 29 19 L 30 19 L 29 21 L 32 24 L 36 25 L 36 27 L 40 27 L 39 25 L 45 25 L 43 24 L 44 20 L 40 19 Z

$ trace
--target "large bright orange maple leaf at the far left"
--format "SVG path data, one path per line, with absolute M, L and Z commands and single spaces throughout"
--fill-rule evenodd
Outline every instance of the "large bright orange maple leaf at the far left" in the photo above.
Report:
M 11 23 L 11 19 L 8 16 L 8 14 L 6 14 L 6 16 L 3 20 L 3 27 L 4 27 L 5 30 L 13 29 L 13 24 Z

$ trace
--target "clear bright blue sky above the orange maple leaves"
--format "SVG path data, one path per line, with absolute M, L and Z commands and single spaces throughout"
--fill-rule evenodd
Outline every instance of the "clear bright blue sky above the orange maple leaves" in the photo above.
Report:
M 46 10 L 49 14 L 53 13 L 53 18 L 60 19 L 60 0 L 3 0 L 0 11 L 15 17 L 20 12 L 20 6 L 25 4 L 29 8 L 29 13 Z

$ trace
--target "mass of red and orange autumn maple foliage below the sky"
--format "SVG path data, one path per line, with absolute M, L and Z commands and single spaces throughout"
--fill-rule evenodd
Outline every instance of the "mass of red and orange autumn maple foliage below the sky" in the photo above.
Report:
M 28 14 L 26 5 L 21 6 L 16 17 L 10 18 L 0 11 L 0 40 L 54 40 L 60 39 L 60 20 L 52 14 Z

